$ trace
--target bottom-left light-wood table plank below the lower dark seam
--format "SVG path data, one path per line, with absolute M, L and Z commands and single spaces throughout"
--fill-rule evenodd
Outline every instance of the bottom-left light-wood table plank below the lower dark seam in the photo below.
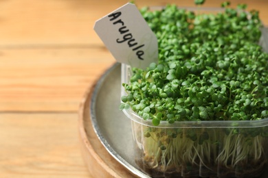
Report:
M 0 114 L 0 177 L 89 177 L 77 114 Z

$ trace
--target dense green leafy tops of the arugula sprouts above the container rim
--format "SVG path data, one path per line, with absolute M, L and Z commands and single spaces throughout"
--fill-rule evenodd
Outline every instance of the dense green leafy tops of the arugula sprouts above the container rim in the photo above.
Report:
M 159 63 L 146 71 L 132 69 L 120 109 L 131 106 L 154 125 L 170 118 L 170 123 L 266 118 L 268 54 L 258 45 L 262 25 L 256 12 L 243 18 L 244 8 L 218 14 L 194 14 L 175 5 L 142 10 L 158 39 Z M 188 112 L 181 114 L 182 109 Z

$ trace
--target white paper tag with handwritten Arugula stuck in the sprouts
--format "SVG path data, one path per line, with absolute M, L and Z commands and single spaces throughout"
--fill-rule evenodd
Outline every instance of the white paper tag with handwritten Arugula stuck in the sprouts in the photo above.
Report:
M 142 69 L 157 63 L 157 38 L 133 3 L 100 18 L 94 30 L 118 62 Z

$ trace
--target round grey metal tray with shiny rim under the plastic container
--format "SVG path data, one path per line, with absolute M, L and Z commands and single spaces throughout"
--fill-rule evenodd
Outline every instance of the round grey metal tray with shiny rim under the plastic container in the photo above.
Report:
M 93 90 L 90 116 L 93 129 L 107 151 L 138 177 L 148 177 L 135 164 L 131 121 L 120 105 L 121 65 L 114 64 Z M 268 166 L 260 178 L 268 177 Z

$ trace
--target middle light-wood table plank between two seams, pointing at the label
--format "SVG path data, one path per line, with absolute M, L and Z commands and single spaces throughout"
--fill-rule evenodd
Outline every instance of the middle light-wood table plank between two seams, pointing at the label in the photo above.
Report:
M 76 112 L 115 60 L 97 49 L 0 49 L 0 110 Z

